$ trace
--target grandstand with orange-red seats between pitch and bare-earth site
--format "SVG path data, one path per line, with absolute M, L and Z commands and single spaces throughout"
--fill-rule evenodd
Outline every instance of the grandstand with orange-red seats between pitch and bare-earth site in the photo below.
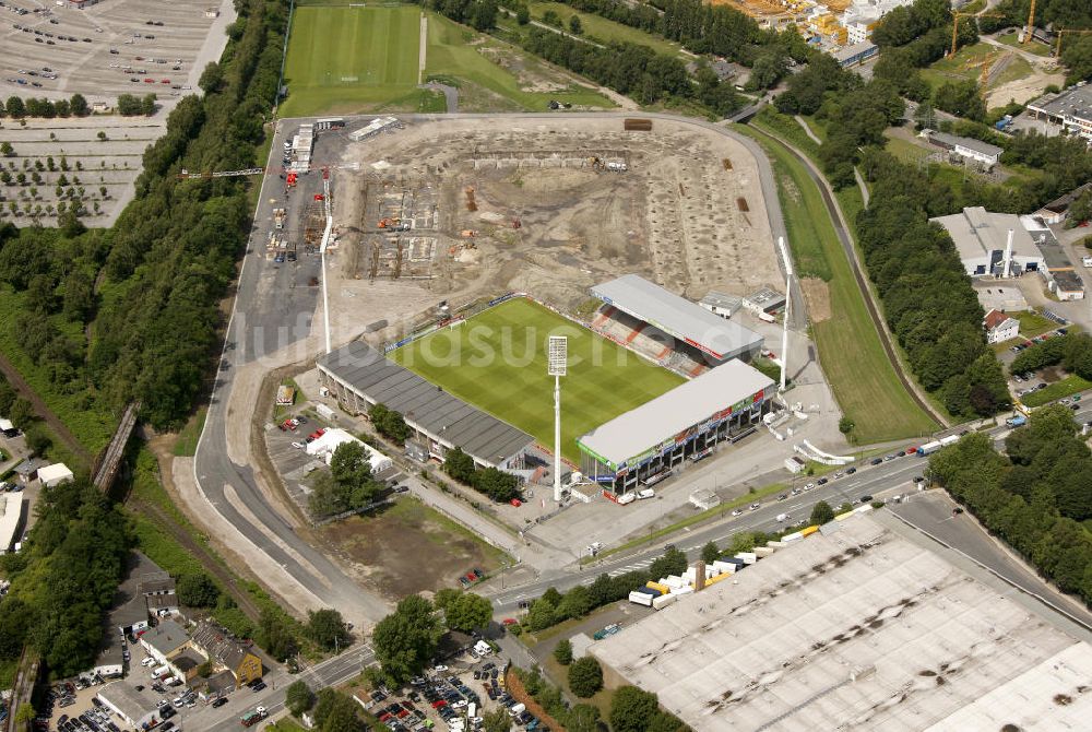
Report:
M 592 330 L 687 377 L 749 361 L 762 337 L 636 274 L 592 287 L 604 305 Z

